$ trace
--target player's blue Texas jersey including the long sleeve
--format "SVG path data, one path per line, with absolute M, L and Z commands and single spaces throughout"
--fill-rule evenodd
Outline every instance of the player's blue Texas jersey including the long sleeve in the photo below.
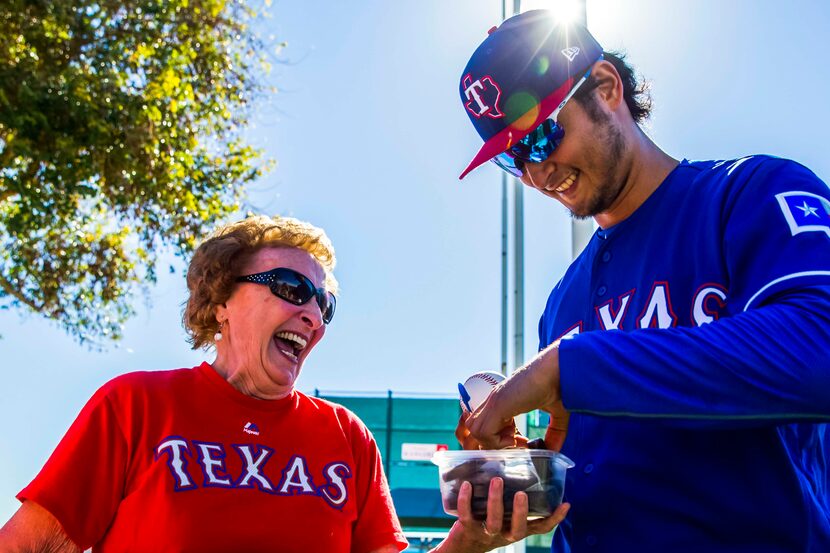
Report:
M 553 289 L 572 503 L 554 551 L 830 551 L 830 188 L 681 162 Z

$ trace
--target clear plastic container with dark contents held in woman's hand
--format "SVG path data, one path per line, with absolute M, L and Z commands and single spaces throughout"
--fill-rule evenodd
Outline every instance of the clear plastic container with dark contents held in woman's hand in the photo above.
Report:
M 513 496 L 525 492 L 528 519 L 553 514 L 562 503 L 565 471 L 573 461 L 546 449 L 484 449 L 438 451 L 432 462 L 438 465 L 438 484 L 444 511 L 458 516 L 458 491 L 463 482 L 473 486 L 473 518 L 487 518 L 487 493 L 490 480 L 504 481 L 504 518 L 513 513 Z

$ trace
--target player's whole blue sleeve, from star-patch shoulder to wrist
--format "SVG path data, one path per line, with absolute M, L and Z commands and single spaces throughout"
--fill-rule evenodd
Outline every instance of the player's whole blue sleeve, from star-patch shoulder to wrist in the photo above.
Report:
M 732 316 L 563 340 L 566 408 L 724 427 L 830 420 L 830 193 L 793 162 L 752 169 L 724 213 Z

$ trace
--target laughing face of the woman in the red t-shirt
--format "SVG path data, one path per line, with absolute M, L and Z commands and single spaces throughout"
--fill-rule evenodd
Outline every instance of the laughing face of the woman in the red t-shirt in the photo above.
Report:
M 308 252 L 290 247 L 264 248 L 238 273 L 277 267 L 306 275 L 316 287 L 325 281 L 323 268 Z M 216 344 L 217 370 L 243 393 L 263 399 L 291 391 L 305 358 L 326 331 L 316 301 L 293 305 L 261 284 L 236 284 L 216 315 L 226 321 Z

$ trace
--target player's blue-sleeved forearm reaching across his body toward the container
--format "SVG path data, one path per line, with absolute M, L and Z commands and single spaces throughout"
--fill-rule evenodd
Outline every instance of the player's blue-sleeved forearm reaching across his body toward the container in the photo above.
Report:
M 565 407 L 730 424 L 830 420 L 830 288 L 701 327 L 586 333 L 560 346 Z

